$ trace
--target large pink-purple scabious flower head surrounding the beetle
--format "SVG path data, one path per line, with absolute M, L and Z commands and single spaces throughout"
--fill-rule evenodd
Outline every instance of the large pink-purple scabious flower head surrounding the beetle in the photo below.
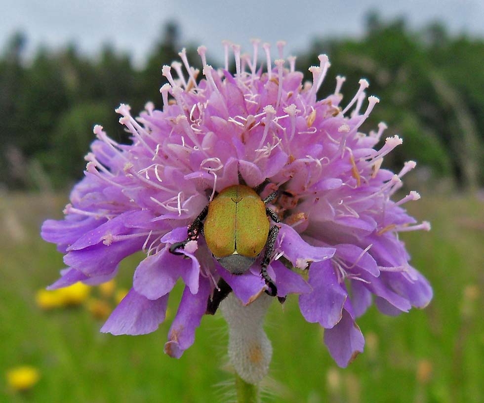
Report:
M 366 102 L 366 80 L 349 102 L 342 103 L 343 77 L 336 78 L 334 93 L 317 98 L 329 68 L 326 55 L 309 68 L 312 82 L 303 82 L 295 58 L 282 58 L 282 42 L 274 63 L 270 46 L 262 46 L 265 66 L 258 66 L 258 41 L 252 56 L 241 55 L 238 45 L 231 48 L 235 74 L 228 71 L 227 43 L 220 70 L 207 64 L 199 47 L 202 75 L 182 50 L 182 63 L 162 68 L 168 81 L 160 89 L 162 110 L 148 103 L 134 119 L 129 106 L 121 105 L 116 111 L 132 144 L 119 144 L 94 127 L 85 177 L 71 193 L 64 220 L 47 220 L 42 227 L 42 237 L 57 243 L 68 266 L 50 288 L 106 282 L 123 258 L 142 250 L 146 257 L 132 288 L 101 330 L 156 330 L 181 278 L 185 288 L 165 345 L 167 354 L 179 358 L 193 344 L 221 278 L 233 290 L 230 298 L 243 305 L 269 297 L 260 258 L 234 275 L 213 258 L 203 235 L 178 249 L 181 256 L 169 247 L 187 238 L 187 226 L 228 186 L 244 183 L 261 198 L 277 190 L 270 207 L 281 223 L 268 274 L 280 301 L 300 294 L 302 315 L 325 328 L 329 353 L 346 366 L 363 351 L 355 321 L 372 301 L 395 315 L 423 308 L 432 298 L 398 238 L 403 231 L 430 228 L 402 207 L 419 195 L 390 199 L 415 162 L 406 162 L 398 174 L 380 168 L 402 140 L 390 137 L 376 148 L 386 125 L 369 134 L 359 131 L 378 103 L 374 96 Z

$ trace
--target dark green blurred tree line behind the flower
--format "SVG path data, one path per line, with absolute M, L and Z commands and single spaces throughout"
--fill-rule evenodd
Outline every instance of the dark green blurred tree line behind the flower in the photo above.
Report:
M 40 47 L 27 63 L 25 44 L 25 36 L 14 34 L 0 55 L 0 187 L 10 189 L 57 188 L 77 180 L 95 123 L 126 142 L 113 109 L 124 102 L 137 112 L 148 100 L 161 107 L 161 66 L 178 59 L 181 48 L 174 23 L 164 27 L 141 69 L 109 44 L 95 58 L 74 44 L 60 51 Z M 200 67 L 195 47 L 187 52 Z M 403 137 L 387 166 L 398 171 L 412 159 L 423 168 L 422 178 L 450 178 L 460 188 L 483 185 L 483 40 L 450 36 L 440 24 L 411 32 L 403 19 L 382 22 L 372 13 L 363 38 L 314 40 L 298 55 L 297 67 L 305 70 L 321 53 L 331 61 L 321 95 L 334 91 L 336 74 L 346 76 L 346 98 L 366 78 L 369 94 L 381 102 L 363 131 L 386 121 L 386 136 Z

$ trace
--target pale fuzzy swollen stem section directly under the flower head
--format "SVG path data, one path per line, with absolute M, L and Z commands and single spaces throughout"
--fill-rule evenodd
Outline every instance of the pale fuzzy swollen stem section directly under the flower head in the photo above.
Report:
M 269 371 L 272 345 L 263 329 L 264 317 L 272 298 L 262 293 L 243 306 L 231 293 L 220 309 L 229 325 L 229 359 L 239 376 L 248 383 L 259 383 Z

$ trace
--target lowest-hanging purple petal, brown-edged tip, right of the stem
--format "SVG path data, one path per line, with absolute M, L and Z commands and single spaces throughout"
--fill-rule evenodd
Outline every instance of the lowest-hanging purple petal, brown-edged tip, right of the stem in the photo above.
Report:
M 343 310 L 343 317 L 336 326 L 324 330 L 324 344 L 338 366 L 345 368 L 358 354 L 363 353 L 364 338 L 360 327 Z

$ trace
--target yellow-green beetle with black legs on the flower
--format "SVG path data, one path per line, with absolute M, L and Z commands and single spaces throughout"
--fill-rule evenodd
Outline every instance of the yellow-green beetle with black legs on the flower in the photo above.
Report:
M 227 271 L 240 275 L 249 269 L 265 246 L 260 274 L 269 287 L 266 293 L 271 296 L 277 295 L 276 284 L 267 274 L 267 266 L 274 251 L 279 227 L 274 225 L 270 228 L 269 217 L 275 223 L 279 223 L 280 220 L 273 210 L 266 207 L 277 194 L 278 192 L 274 192 L 261 200 L 253 189 L 245 185 L 223 189 L 188 227 L 187 239 L 173 243 L 170 252 L 180 254 L 176 249 L 196 240 L 203 232 L 213 257 Z M 225 294 L 221 299 L 231 290 L 223 280 L 219 288 L 222 288 L 221 292 Z

